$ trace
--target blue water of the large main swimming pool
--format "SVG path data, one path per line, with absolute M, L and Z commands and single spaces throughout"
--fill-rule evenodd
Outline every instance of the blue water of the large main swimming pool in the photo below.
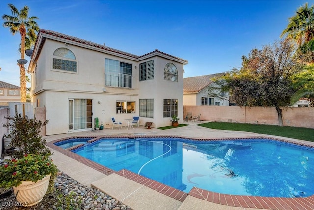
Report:
M 127 169 L 184 192 L 193 186 L 226 194 L 314 194 L 314 149 L 280 141 L 101 139 L 75 153 L 115 171 Z

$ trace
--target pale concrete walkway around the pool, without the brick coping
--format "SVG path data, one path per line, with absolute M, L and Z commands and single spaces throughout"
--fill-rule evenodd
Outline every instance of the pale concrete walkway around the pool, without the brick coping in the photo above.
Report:
M 193 137 L 193 138 L 239 138 L 239 137 L 275 137 L 270 135 L 256 134 L 250 132 L 240 131 L 226 131 L 226 130 L 215 130 L 209 128 L 203 128 L 197 126 L 197 123 L 189 122 L 185 123 L 189 126 L 178 127 L 168 130 L 159 130 L 156 128 L 146 129 L 143 126 L 134 129 L 125 129 L 124 127 L 120 130 L 115 129 L 104 129 L 98 131 L 84 131 L 75 132 L 71 134 L 59 134 L 45 136 L 47 142 L 52 142 L 57 139 L 73 137 L 73 136 L 132 136 L 132 135 L 149 135 L 149 136 L 182 136 L 182 137 Z M 313 145 L 313 142 L 304 142 L 296 139 L 289 139 L 284 137 L 277 137 L 280 139 L 299 142 L 302 144 Z M 122 203 L 130 206 L 134 210 L 250 210 L 250 208 L 243 207 L 231 207 L 226 205 L 220 205 L 198 199 L 196 197 L 187 195 L 183 200 L 176 200 L 170 198 L 162 193 L 157 192 L 145 185 L 139 184 L 135 181 L 112 173 L 105 175 L 92 167 L 89 167 L 77 160 L 65 155 L 63 152 L 53 150 L 52 158 L 54 163 L 60 170 L 68 174 L 73 179 L 86 186 L 95 186 L 101 191 L 108 195 L 116 198 Z M 253 209 L 252 209 L 253 210 Z M 258 210 L 254 208 L 254 210 Z

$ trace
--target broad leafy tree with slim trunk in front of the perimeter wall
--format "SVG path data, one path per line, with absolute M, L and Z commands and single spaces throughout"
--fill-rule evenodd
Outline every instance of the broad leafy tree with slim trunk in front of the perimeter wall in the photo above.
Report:
M 283 106 L 290 105 L 295 93 L 292 75 L 302 70 L 296 46 L 289 39 L 252 49 L 242 57 L 242 68 L 233 69 L 224 76 L 228 88 L 239 106 L 274 106 L 278 124 L 283 126 Z

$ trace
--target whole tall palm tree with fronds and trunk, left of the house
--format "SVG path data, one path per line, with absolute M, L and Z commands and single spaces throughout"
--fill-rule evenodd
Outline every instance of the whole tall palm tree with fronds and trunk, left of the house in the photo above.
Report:
M 20 11 L 13 5 L 8 4 L 12 15 L 3 15 L 3 26 L 9 27 L 11 33 L 15 35 L 18 31 L 21 35 L 21 59 L 24 59 L 25 39 L 27 37 L 30 42 L 29 46 L 35 43 L 36 33 L 39 31 L 37 17 L 28 17 L 28 6 L 24 6 Z M 21 88 L 21 102 L 26 102 L 26 79 L 24 64 L 18 64 L 20 67 L 20 88 Z

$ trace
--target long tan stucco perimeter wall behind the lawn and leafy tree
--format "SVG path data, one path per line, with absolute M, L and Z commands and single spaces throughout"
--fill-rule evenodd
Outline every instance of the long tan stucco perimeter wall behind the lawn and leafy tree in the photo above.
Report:
M 275 107 L 184 106 L 188 112 L 204 121 L 278 125 Z M 284 126 L 314 128 L 314 107 L 284 107 L 282 116 Z

